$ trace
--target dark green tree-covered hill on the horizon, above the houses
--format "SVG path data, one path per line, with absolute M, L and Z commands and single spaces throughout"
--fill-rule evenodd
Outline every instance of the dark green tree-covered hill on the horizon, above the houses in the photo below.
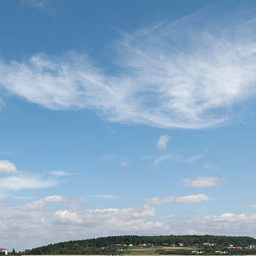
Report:
M 139 244 L 154 244 L 154 246 L 167 246 L 183 243 L 184 246 L 202 245 L 212 243 L 216 246 L 248 246 L 256 244 L 255 238 L 246 236 L 108 236 L 78 241 L 65 241 L 58 244 L 37 247 L 26 250 L 26 255 L 90 255 L 106 254 L 104 249 L 116 249 L 119 246 L 138 246 Z M 101 251 L 101 252 L 99 252 Z

